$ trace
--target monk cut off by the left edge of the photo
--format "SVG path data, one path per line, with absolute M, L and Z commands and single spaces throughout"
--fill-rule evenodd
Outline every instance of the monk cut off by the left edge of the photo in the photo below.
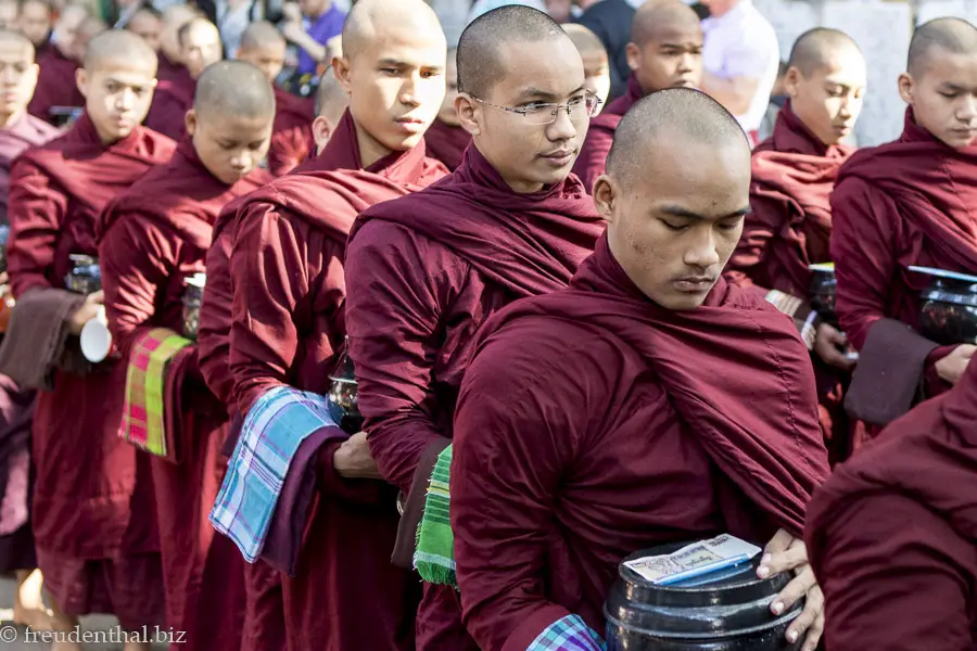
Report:
M 16 31 L 0 30 L 0 222 L 8 224 L 10 167 L 14 158 L 29 146 L 37 146 L 58 135 L 58 129 L 27 114 L 34 94 L 38 67 L 34 44 Z M 10 291 L 8 275 L 0 273 L 0 292 Z M 4 481 L 0 484 L 3 503 L 0 514 L 0 572 L 15 572 L 17 591 L 14 622 L 33 628 L 45 627 L 47 609 L 40 591 L 40 573 L 35 570 L 34 534 L 29 522 L 30 417 L 34 392 L 21 388 L 0 375 L 0 448 Z

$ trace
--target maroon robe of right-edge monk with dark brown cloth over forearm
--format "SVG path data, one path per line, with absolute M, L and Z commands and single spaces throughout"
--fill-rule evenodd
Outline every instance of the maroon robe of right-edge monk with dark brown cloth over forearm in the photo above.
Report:
M 977 144 L 943 144 L 916 125 L 912 110 L 899 140 L 861 150 L 841 167 L 830 203 L 835 309 L 858 349 L 881 318 L 918 330 L 919 292 L 929 279 L 908 267 L 977 275 L 977 218 L 969 207 L 977 205 Z M 939 347 L 927 358 L 929 395 L 949 388 L 934 363 L 952 349 Z

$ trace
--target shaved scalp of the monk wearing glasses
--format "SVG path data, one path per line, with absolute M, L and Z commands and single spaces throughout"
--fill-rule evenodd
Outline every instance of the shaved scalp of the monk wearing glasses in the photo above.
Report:
M 507 4 L 482 14 L 458 39 L 459 90 L 477 98 L 487 97 L 509 72 L 499 58 L 508 43 L 548 40 L 573 44 L 559 23 L 531 7 Z

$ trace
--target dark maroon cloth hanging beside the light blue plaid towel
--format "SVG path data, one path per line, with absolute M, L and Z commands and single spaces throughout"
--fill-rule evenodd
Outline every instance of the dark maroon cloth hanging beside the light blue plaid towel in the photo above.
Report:
M 262 560 L 289 576 L 295 576 L 302 535 L 309 519 L 316 496 L 317 459 L 319 450 L 330 441 L 350 435 L 335 426 L 319 427 L 299 445 L 282 484 L 278 507 L 271 515 L 268 538 Z

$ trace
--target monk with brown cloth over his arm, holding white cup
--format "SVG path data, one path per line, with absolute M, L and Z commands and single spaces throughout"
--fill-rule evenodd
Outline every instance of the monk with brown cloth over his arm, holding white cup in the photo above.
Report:
M 155 72 L 156 56 L 138 36 L 97 36 L 78 72 L 85 114 L 67 133 L 14 163 L 8 260 L 18 307 L 34 292 L 69 299 L 61 289 L 68 256 L 97 254 L 99 213 L 173 154 L 172 141 L 139 126 Z M 80 307 L 67 319 L 74 335 L 98 314 L 101 292 L 76 301 Z M 67 346 L 77 349 L 77 340 L 69 336 Z M 88 373 L 59 370 L 53 390 L 38 394 L 34 534 L 60 630 L 72 630 L 78 615 L 91 612 L 114 613 L 127 630 L 163 624 L 149 459 L 117 434 L 124 382 L 125 367 L 107 361 Z M 142 648 L 126 644 L 127 651 Z

